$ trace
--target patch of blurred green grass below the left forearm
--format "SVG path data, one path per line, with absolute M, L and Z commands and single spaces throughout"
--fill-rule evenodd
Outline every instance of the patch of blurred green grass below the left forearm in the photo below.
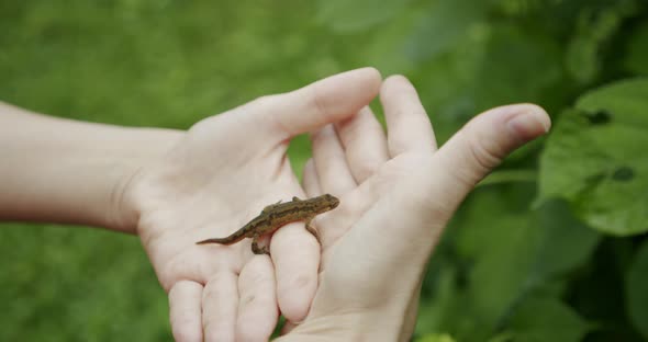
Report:
M 168 340 L 167 299 L 136 239 L 54 225 L 3 228 L 0 340 Z

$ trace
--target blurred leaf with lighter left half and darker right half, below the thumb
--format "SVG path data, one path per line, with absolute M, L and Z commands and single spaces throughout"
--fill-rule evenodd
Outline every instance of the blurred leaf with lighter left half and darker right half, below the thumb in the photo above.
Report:
M 476 312 L 482 321 L 491 320 L 491 328 L 535 292 L 559 295 L 565 274 L 586 262 L 599 241 L 560 203 L 496 225 L 482 227 L 493 240 L 482 236 L 484 249 L 470 275 Z

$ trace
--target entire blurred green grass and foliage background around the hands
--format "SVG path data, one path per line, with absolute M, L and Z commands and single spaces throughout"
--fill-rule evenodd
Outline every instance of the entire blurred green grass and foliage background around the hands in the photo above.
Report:
M 442 142 L 491 106 L 543 105 L 551 135 L 431 260 L 427 342 L 648 339 L 647 61 L 640 0 L 0 0 L 0 99 L 51 115 L 183 129 L 364 66 L 407 76 Z M 0 303 L 1 341 L 171 339 L 139 242 L 100 229 L 2 224 Z

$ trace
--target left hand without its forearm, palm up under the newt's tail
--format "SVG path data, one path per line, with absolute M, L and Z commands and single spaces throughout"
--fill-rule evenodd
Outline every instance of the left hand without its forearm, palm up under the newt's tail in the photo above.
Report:
M 303 191 L 286 151 L 293 136 L 366 106 L 381 83 L 375 69 L 337 75 L 260 98 L 195 124 L 164 158 L 139 170 L 124 193 L 137 232 L 169 294 L 177 341 L 264 340 L 278 318 L 302 320 L 317 286 L 320 246 L 301 224 L 272 237 L 267 255 L 225 237 L 265 205 Z

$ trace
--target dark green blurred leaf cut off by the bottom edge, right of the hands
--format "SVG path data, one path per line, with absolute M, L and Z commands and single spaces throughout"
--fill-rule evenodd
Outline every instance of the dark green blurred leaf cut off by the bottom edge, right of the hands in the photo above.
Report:
M 515 342 L 578 342 L 588 330 L 588 323 L 577 312 L 552 298 L 525 300 L 507 326 Z

